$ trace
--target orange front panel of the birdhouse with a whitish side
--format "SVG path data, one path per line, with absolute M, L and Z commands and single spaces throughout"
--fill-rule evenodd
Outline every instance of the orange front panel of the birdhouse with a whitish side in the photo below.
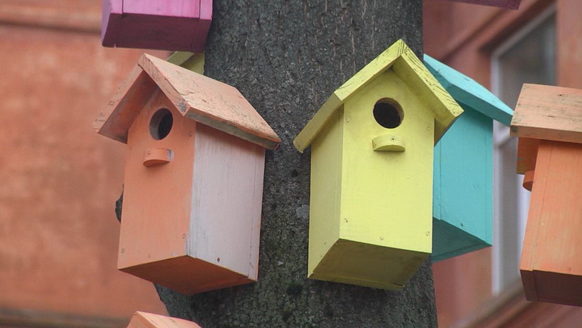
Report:
M 162 126 L 160 122 L 160 114 L 166 123 L 170 119 L 173 123 L 167 136 L 156 140 L 151 131 L 168 131 L 168 124 Z M 119 268 L 186 254 L 195 131 L 196 123 L 181 116 L 160 90 L 129 128 Z M 160 151 L 170 153 L 170 162 L 144 165 L 156 160 L 149 154 Z

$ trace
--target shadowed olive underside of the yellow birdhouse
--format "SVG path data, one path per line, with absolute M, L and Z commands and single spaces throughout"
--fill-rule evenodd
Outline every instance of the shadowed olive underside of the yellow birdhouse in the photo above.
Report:
M 338 240 L 309 278 L 401 290 L 428 255 L 429 253 Z

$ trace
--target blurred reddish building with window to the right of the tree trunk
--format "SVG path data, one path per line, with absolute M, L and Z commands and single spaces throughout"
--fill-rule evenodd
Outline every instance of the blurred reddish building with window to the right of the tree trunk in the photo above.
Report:
M 519 10 L 424 5 L 425 52 L 510 108 L 526 82 L 582 88 L 582 1 L 522 0 Z M 494 125 L 494 246 L 433 264 L 440 327 L 582 327 L 579 307 L 525 301 L 519 261 L 529 192 L 515 174 L 516 149 L 509 129 Z

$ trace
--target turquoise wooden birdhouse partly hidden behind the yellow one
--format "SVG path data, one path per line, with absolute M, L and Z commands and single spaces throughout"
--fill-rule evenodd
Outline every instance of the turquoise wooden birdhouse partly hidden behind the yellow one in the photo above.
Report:
M 464 110 L 435 145 L 432 260 L 440 261 L 493 242 L 493 120 L 509 126 L 513 111 L 429 55 L 425 65 Z

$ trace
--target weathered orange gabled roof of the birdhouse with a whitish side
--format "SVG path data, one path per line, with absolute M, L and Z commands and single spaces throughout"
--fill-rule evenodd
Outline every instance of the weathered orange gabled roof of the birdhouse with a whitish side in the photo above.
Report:
M 94 129 L 127 143 L 129 127 L 157 88 L 187 118 L 268 149 L 281 142 L 236 88 L 147 54 L 99 114 Z

